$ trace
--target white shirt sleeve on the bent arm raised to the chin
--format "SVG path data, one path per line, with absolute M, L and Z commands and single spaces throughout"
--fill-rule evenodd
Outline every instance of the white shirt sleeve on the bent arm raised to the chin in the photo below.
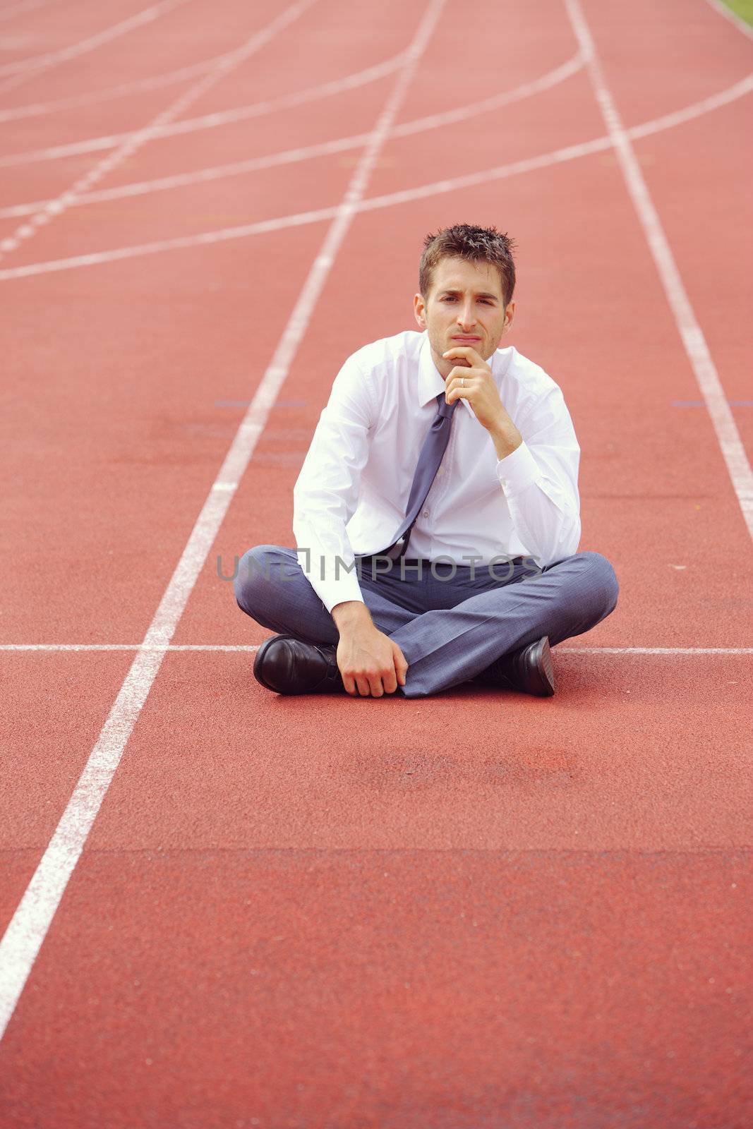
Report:
M 537 564 L 569 557 L 580 541 L 580 447 L 558 386 L 517 425 L 523 443 L 497 463 L 513 525 Z

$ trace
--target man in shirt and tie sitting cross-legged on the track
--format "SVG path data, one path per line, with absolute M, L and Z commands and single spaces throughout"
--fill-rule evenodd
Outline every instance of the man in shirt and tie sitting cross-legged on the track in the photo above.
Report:
M 294 489 L 297 551 L 257 545 L 236 575 L 238 605 L 278 632 L 254 663 L 266 689 L 548 697 L 550 645 L 616 605 L 610 562 L 577 552 L 580 448 L 562 393 L 498 348 L 514 250 L 493 227 L 427 236 L 421 332 L 365 345 L 335 377 Z

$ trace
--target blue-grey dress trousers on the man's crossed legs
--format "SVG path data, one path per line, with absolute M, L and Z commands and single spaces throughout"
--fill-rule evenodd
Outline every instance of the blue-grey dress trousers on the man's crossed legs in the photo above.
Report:
M 614 610 L 619 592 L 608 560 L 590 551 L 543 569 L 531 558 L 516 558 L 492 566 L 405 561 L 401 571 L 397 562 L 365 557 L 357 575 L 375 625 L 409 664 L 405 685 L 396 691 L 406 698 L 469 682 L 496 658 L 544 634 L 552 646 L 581 634 Z M 294 549 L 249 549 L 234 586 L 238 606 L 262 627 L 309 642 L 338 642 L 334 620 Z

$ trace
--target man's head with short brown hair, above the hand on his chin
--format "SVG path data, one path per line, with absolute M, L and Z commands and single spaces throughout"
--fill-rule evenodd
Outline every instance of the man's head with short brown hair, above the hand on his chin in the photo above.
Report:
M 472 345 L 488 360 L 513 324 L 514 250 L 513 239 L 496 228 L 470 224 L 423 240 L 413 307 L 443 376 L 457 364 L 443 359 L 448 349 Z

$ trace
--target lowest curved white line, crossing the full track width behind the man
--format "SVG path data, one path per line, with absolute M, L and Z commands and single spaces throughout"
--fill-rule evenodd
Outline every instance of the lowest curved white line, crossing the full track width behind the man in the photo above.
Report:
M 703 98 L 701 102 L 686 106 L 662 117 L 656 117 L 641 125 L 634 125 L 628 130 L 628 137 L 648 137 L 662 130 L 680 125 L 683 122 L 700 117 L 712 110 L 718 110 L 727 105 L 735 98 L 739 98 L 753 90 L 753 75 L 746 76 L 719 94 Z M 335 142 L 327 142 L 334 145 Z M 563 149 L 554 149 L 551 152 L 542 154 L 539 157 L 529 157 L 525 160 L 513 161 L 509 165 L 499 165 L 497 168 L 487 168 L 480 173 L 469 173 L 465 176 L 456 176 L 444 181 L 435 181 L 431 184 L 421 184 L 414 189 L 405 189 L 401 192 L 392 192 L 382 196 L 370 196 L 361 201 L 358 211 L 374 211 L 379 208 L 392 208 L 396 204 L 409 203 L 414 200 L 423 200 L 427 196 L 438 195 L 445 192 L 455 192 L 462 187 L 474 187 L 487 184 L 491 181 L 502 180 L 508 176 L 517 176 L 524 173 L 536 172 L 552 165 L 575 160 L 594 152 L 602 152 L 612 148 L 611 137 L 594 138 L 593 141 L 581 141 L 577 145 L 567 146 Z M 292 151 L 292 150 L 291 150 Z M 279 231 L 289 227 L 299 227 L 305 224 L 318 224 L 323 220 L 332 219 L 336 209 L 318 208 L 306 212 L 295 212 L 289 216 L 280 216 L 274 219 L 259 220 L 255 224 L 244 224 L 240 227 L 219 228 L 213 231 L 202 231 L 191 236 L 177 236 L 173 239 L 159 239 L 154 243 L 135 244 L 130 247 L 116 247 L 111 251 L 97 251 L 87 255 L 75 255 L 70 259 L 55 259 L 47 262 L 29 263 L 27 266 L 15 266 L 0 270 L 0 282 L 16 278 L 26 278 L 34 274 L 49 274 L 55 271 L 75 270 L 80 266 L 96 266 L 102 263 L 116 262 L 124 259 L 137 259 L 141 255 L 160 254 L 165 251 L 177 251 L 187 247 L 196 247 L 205 244 L 222 243 L 227 239 L 242 239 L 254 235 L 262 235 L 268 231 Z

